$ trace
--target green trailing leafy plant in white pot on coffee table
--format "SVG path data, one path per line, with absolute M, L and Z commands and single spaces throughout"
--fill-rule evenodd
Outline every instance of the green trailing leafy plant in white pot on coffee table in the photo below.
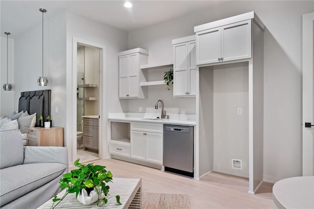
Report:
M 55 208 L 69 193 L 76 193 L 77 198 L 83 188 L 88 191 L 92 190 L 94 187 L 101 187 L 100 191 L 99 189 L 95 189 L 99 197 L 97 201 L 98 207 L 104 206 L 108 202 L 108 199 L 113 197 L 106 197 L 109 192 L 109 186 L 106 185 L 106 183 L 111 182 L 112 173 L 107 171 L 103 165 L 93 165 L 93 163 L 83 165 L 78 162 L 79 159 L 74 162 L 74 165 L 78 167 L 78 169 L 63 174 L 63 177 L 60 179 L 60 187 L 61 189 L 66 188 L 66 192 L 61 198 L 57 198 L 57 195 L 53 196 L 52 209 Z M 121 205 L 120 196 L 116 195 L 115 198 L 116 202 Z

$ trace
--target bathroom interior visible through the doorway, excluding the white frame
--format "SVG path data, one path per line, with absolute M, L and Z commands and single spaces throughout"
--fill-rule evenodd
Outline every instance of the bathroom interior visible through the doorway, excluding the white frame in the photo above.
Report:
M 77 158 L 99 159 L 99 87 L 101 50 L 77 47 Z

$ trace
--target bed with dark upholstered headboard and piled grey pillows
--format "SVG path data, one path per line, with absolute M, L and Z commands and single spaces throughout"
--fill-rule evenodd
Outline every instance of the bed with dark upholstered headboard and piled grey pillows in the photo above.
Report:
M 51 90 L 21 92 L 18 111 L 0 117 L 0 131 L 20 129 L 26 145 L 26 129 L 40 126 L 40 116 L 45 119 L 51 113 Z

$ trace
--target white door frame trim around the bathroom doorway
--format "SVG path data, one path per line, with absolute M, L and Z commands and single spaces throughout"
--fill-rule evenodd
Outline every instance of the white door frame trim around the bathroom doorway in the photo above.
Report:
M 78 37 L 74 37 L 72 39 L 72 128 L 71 128 L 71 138 L 72 140 L 72 162 L 77 159 L 77 61 L 78 61 L 78 44 L 83 46 L 89 46 L 98 48 L 101 51 L 101 59 L 100 59 L 100 87 L 99 87 L 99 111 L 100 111 L 100 118 L 99 118 L 99 151 L 98 155 L 100 159 L 103 159 L 107 156 L 107 140 L 106 139 L 106 46 L 103 44 L 91 42 L 85 39 L 81 39 Z

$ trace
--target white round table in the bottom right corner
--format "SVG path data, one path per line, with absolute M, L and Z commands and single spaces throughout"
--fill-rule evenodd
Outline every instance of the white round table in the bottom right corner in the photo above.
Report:
M 276 182 L 273 200 L 278 208 L 314 209 L 314 176 L 292 177 Z

